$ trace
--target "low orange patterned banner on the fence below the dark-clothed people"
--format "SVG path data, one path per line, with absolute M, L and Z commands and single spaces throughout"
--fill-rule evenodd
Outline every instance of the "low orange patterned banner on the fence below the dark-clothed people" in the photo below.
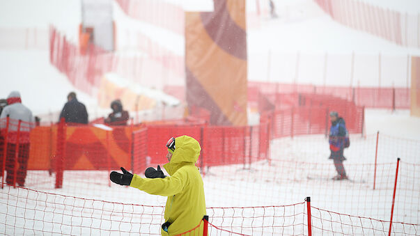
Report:
M 131 127 L 104 130 L 91 126 L 66 127 L 65 170 L 107 170 L 131 167 Z M 54 169 L 57 127 L 31 131 L 29 170 Z

